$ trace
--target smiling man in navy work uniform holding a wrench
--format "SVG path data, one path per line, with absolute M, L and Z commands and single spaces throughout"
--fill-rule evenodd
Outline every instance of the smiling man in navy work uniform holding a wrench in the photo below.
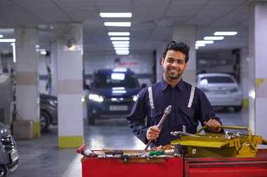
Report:
M 217 128 L 221 122 L 216 118 L 205 94 L 182 79 L 189 59 L 188 53 L 189 47 L 185 43 L 171 41 L 167 45 L 162 57 L 162 80 L 141 90 L 127 118 L 129 127 L 138 139 L 145 144 L 152 141 L 151 148 L 166 146 L 177 139 L 171 132 L 195 134 L 199 121 L 202 126 L 207 125 L 210 132 L 223 131 Z M 158 129 L 157 124 L 168 106 L 171 106 L 171 113 Z

